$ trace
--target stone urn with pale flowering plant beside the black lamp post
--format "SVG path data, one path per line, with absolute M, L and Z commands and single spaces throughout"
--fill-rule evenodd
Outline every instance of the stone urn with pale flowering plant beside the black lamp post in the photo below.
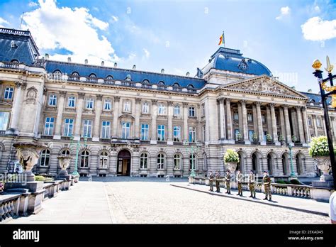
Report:
M 326 136 L 312 138 L 310 142 L 309 155 L 317 161 L 318 169 L 323 172 L 323 175 L 320 176 L 320 181 L 332 180 L 332 177 L 328 173 L 331 167 L 331 162 Z

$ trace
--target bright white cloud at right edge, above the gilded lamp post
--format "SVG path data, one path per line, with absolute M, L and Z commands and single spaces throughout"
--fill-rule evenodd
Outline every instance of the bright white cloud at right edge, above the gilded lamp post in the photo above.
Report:
M 319 16 L 309 18 L 301 25 L 303 37 L 306 40 L 323 41 L 336 37 L 336 19 L 323 21 Z

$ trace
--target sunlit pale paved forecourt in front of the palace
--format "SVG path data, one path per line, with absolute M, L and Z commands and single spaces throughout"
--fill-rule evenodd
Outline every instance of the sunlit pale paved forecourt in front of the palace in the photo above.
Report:
M 128 224 L 329 224 L 327 216 L 267 204 L 218 197 L 172 185 L 185 179 L 96 178 L 43 202 L 37 214 L 10 221 L 25 223 Z M 171 185 L 172 184 L 172 185 Z M 194 185 L 191 185 L 194 186 Z M 247 193 L 247 192 L 245 192 Z M 300 199 L 302 203 L 307 199 Z

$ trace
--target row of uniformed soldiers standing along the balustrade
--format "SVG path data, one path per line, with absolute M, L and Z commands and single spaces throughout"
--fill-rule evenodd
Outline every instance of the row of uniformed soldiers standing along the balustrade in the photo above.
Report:
M 231 186 L 230 186 L 230 180 L 231 180 L 231 172 L 229 170 L 226 171 L 225 177 L 220 177 L 220 171 L 218 170 L 215 174 L 213 174 L 212 171 L 209 173 L 209 185 L 210 185 L 210 191 L 213 192 L 213 182 L 215 181 L 215 187 L 216 192 L 220 192 L 220 181 L 224 179 L 225 186 L 226 186 L 226 192 L 225 194 L 231 194 Z M 240 197 L 242 197 L 242 183 L 244 182 L 244 177 L 240 170 L 237 170 L 235 180 L 237 181 L 237 187 L 238 187 L 238 194 Z M 265 198 L 264 200 L 271 201 L 271 177 L 269 177 L 268 172 L 264 171 L 264 177 L 262 177 L 262 182 L 264 184 L 265 189 Z M 254 172 L 251 170 L 248 178 L 248 185 L 250 189 L 250 197 L 255 198 L 255 175 Z

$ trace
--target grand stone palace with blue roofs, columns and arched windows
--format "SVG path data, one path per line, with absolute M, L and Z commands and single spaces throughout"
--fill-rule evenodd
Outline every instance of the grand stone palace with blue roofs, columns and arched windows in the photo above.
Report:
M 308 146 L 325 135 L 320 95 L 279 82 L 261 62 L 220 47 L 196 75 L 168 75 L 50 60 L 29 31 L 0 28 L 0 170 L 13 143 L 45 143 L 35 172 L 189 176 L 223 172 L 228 148 L 242 172 L 315 176 Z M 313 75 L 312 75 L 312 79 Z M 336 111 L 330 107 L 332 135 Z M 291 154 L 289 143 L 293 144 Z

